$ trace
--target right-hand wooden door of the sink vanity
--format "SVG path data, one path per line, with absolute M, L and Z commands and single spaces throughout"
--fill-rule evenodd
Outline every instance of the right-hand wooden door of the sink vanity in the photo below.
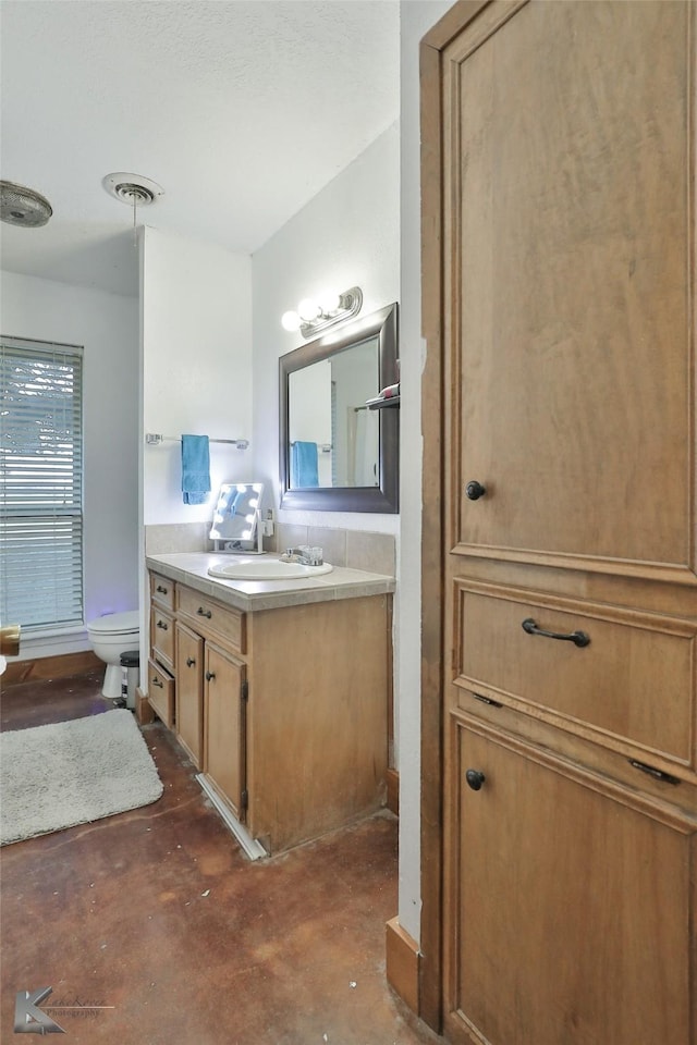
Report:
M 241 823 L 245 820 L 245 665 L 206 644 L 204 772 Z

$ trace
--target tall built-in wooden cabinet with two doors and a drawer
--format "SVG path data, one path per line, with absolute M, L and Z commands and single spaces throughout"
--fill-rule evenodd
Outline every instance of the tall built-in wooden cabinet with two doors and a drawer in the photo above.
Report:
M 697 1041 L 696 14 L 461 3 L 424 42 L 454 1042 Z

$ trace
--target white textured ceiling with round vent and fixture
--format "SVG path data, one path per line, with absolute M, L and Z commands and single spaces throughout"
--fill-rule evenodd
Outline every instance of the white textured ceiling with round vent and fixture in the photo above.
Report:
M 2 268 L 135 293 L 133 213 L 253 253 L 399 115 L 398 0 L 1 0 L 1 174 L 42 229 L 0 225 Z

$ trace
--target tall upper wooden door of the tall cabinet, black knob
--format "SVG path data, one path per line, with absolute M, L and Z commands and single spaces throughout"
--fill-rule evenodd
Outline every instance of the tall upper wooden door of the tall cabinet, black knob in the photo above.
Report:
M 461 555 L 694 581 L 690 48 L 688 3 L 494 0 L 445 51 Z

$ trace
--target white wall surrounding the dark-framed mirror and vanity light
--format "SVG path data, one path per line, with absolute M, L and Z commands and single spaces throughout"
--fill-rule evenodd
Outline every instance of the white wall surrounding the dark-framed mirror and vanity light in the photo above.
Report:
M 325 287 L 360 286 L 360 315 L 400 294 L 400 138 L 393 124 L 253 257 L 254 447 L 279 504 L 279 356 L 305 344 L 281 316 Z M 399 534 L 395 515 L 280 512 L 281 522 Z

